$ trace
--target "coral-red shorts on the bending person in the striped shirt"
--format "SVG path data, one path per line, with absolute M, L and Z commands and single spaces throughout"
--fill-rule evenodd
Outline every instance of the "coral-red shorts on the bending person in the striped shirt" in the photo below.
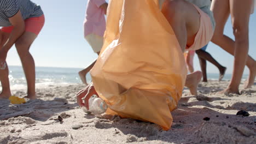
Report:
M 43 26 L 44 26 L 44 15 L 39 17 L 31 17 L 25 20 L 26 32 L 32 32 L 38 35 L 41 29 L 43 28 Z M 5 33 L 11 33 L 11 31 L 13 31 L 13 26 L 2 27 L 1 30 Z

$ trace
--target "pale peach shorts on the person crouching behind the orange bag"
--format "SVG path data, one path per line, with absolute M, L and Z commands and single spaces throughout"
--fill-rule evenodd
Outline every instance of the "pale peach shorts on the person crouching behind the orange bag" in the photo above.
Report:
M 186 47 L 186 51 L 201 49 L 203 46 L 207 45 L 211 41 L 214 33 L 210 17 L 201 9 L 199 9 L 196 5 L 194 5 L 194 7 L 200 14 L 200 27 L 198 32 L 196 33 L 193 45 L 191 45 L 190 47 Z

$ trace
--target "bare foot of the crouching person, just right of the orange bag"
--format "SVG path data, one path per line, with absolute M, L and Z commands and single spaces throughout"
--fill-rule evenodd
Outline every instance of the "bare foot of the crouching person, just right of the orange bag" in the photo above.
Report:
M 189 74 L 187 76 L 185 86 L 189 88 L 189 91 L 192 95 L 197 96 L 197 85 L 202 79 L 202 72 L 201 71 L 195 71 L 192 74 Z

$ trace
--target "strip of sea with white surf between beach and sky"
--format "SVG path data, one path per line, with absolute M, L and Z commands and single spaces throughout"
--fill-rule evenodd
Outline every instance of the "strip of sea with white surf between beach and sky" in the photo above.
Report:
M 49 85 L 71 85 L 75 83 L 82 83 L 79 78 L 78 71 L 82 68 L 52 68 L 52 67 L 36 67 L 36 87 L 46 87 Z M 243 75 L 246 79 L 248 75 Z M 91 77 L 88 74 L 88 82 Z M 208 73 L 209 80 L 218 80 L 219 74 Z M 230 80 L 231 74 L 225 74 L 223 80 Z M 26 78 L 22 67 L 9 66 L 9 80 L 11 89 L 24 89 L 26 88 Z M 1 86 L 1 84 L 0 84 Z M 0 90 L 2 87 L 0 88 Z

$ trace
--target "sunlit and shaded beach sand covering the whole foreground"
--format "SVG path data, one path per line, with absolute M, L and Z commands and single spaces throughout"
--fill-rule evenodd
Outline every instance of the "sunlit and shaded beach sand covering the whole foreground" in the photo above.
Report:
M 185 88 L 168 131 L 130 118 L 86 115 L 75 98 L 83 85 L 37 89 L 39 99 L 26 104 L 0 100 L 0 143 L 255 143 L 256 86 L 242 95 L 217 94 L 227 85 L 200 83 L 200 101 Z M 236 116 L 240 110 L 250 116 Z M 54 120 L 58 116 L 63 120 Z

